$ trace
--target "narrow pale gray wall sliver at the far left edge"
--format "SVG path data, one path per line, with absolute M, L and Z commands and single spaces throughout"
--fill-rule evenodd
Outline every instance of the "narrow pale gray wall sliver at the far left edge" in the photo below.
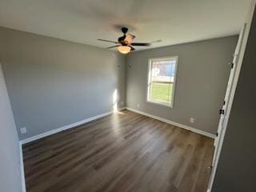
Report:
M 0 191 L 22 191 L 19 145 L 0 63 Z

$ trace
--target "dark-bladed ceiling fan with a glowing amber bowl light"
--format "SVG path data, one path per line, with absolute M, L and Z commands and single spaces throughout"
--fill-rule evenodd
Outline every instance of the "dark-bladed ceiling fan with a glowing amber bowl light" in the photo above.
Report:
M 118 38 L 117 42 L 102 39 L 102 38 L 98 38 L 98 41 L 112 42 L 112 43 L 118 44 L 116 46 L 107 47 L 106 49 L 118 47 L 118 51 L 122 54 L 128 54 L 130 51 L 135 50 L 134 46 L 150 46 L 151 45 L 150 42 L 133 42 L 135 36 L 133 34 L 127 34 L 128 28 L 122 27 L 121 30 L 123 35 L 120 38 Z

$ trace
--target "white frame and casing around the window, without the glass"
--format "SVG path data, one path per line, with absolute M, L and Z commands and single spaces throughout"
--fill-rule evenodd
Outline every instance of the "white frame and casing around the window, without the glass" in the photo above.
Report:
M 171 95 L 171 102 L 156 102 L 150 100 L 150 82 L 151 82 L 151 66 L 153 62 L 163 61 L 163 60 L 176 60 L 176 66 L 174 71 L 174 83 L 173 83 L 173 91 Z M 166 106 L 173 108 L 174 107 L 174 95 L 175 95 L 175 88 L 176 88 L 176 82 L 177 82 L 177 71 L 178 71 L 178 56 L 170 56 L 170 57 L 163 57 L 163 58 L 149 58 L 148 60 L 148 70 L 147 70 L 147 84 L 146 84 L 146 102 L 154 103 L 160 106 Z

